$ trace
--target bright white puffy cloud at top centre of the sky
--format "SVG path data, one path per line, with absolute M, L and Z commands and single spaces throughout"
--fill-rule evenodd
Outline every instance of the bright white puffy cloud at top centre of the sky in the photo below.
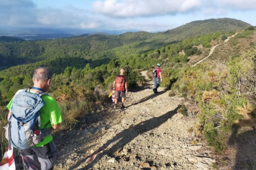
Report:
M 202 5 L 202 0 L 105 0 L 92 4 L 95 12 L 113 17 L 142 17 L 189 12 Z

